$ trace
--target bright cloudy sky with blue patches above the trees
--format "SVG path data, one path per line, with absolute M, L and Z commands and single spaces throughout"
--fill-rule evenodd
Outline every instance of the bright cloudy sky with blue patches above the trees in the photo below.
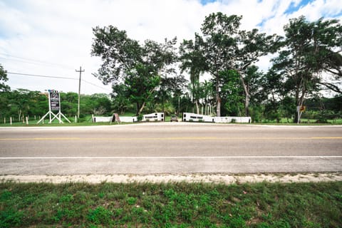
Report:
M 242 29 L 278 35 L 302 15 L 342 21 L 341 0 L 0 0 L 0 64 L 11 90 L 78 93 L 81 67 L 81 93 L 109 94 L 92 74 L 101 64 L 90 55 L 95 26 L 116 26 L 140 43 L 177 36 L 178 46 L 218 11 L 242 15 Z M 257 66 L 266 71 L 269 56 Z

